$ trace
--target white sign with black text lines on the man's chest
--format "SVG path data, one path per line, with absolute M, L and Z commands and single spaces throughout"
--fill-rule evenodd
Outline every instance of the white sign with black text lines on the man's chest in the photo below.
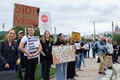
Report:
M 38 50 L 39 45 L 40 45 L 39 36 L 28 37 L 27 49 L 30 54 L 35 53 Z M 36 56 L 36 57 L 38 57 L 38 56 Z M 36 58 L 36 57 L 34 57 L 34 58 Z M 30 58 L 28 57 L 28 59 L 30 59 Z

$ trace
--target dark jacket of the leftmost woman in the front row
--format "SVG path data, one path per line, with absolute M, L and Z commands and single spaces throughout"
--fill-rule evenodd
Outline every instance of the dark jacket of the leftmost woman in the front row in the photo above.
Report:
M 0 42 L 0 63 L 5 64 L 16 64 L 18 56 L 18 44 L 15 41 L 12 41 L 11 46 L 8 45 L 8 41 Z

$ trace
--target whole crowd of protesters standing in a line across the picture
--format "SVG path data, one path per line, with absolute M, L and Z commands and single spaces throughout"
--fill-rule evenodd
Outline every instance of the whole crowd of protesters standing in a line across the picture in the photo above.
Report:
M 75 61 L 56 64 L 56 80 L 75 80 L 78 77 L 77 71 L 83 71 L 81 65 L 86 67 L 85 59 L 92 57 L 99 58 L 99 74 L 105 75 L 105 57 L 111 56 L 113 63 L 118 63 L 120 56 L 120 45 L 110 38 L 100 36 L 100 40 L 93 42 L 73 41 L 69 38 L 65 42 L 64 34 L 58 34 L 55 44 L 52 42 L 51 34 L 45 31 L 42 39 L 38 38 L 35 51 L 29 50 L 30 40 L 34 38 L 35 30 L 28 27 L 28 35 L 23 31 L 16 33 L 13 29 L 9 30 L 5 40 L 0 42 L 0 71 L 16 70 L 20 80 L 35 80 L 36 66 L 40 63 L 40 76 L 43 80 L 50 80 L 50 68 L 53 64 L 52 46 L 74 45 Z M 16 40 L 15 40 L 16 39 Z M 34 40 L 34 39 L 33 39 Z M 31 48 L 32 49 L 32 48 Z M 40 58 L 40 62 L 38 62 Z M 108 67 L 112 69 L 112 66 Z M 22 76 L 25 72 L 24 77 Z

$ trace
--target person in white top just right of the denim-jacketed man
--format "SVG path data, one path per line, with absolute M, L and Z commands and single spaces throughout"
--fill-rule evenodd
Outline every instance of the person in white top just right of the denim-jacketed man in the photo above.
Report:
M 112 39 L 108 39 L 107 40 L 107 56 L 111 56 L 113 55 L 113 44 L 112 44 Z M 108 67 L 108 69 L 112 69 L 112 65 L 110 67 Z

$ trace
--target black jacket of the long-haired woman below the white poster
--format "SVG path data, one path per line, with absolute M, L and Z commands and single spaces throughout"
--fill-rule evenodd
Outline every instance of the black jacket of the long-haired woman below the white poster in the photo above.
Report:
M 52 62 L 52 45 L 53 44 L 50 43 L 49 41 L 46 41 L 45 43 L 41 41 L 41 45 L 42 45 L 42 51 L 45 53 L 45 56 L 40 54 L 40 61 L 49 60 Z

